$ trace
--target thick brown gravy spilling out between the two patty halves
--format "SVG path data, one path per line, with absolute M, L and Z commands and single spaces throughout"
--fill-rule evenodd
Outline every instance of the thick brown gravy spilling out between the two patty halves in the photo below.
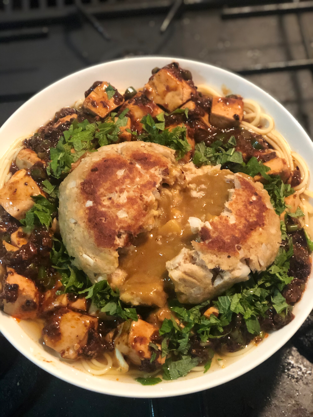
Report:
M 158 305 L 154 303 L 154 296 L 160 281 L 168 277 L 166 262 L 182 248 L 192 249 L 191 241 L 196 236 L 190 229 L 189 217 L 210 221 L 221 214 L 229 189 L 234 187 L 233 181 L 226 178 L 228 174 L 228 170 L 205 173 L 195 177 L 183 190 L 162 187 L 157 226 L 136 237 L 129 252 L 119 257 L 119 267 L 127 273 L 121 293 L 139 292 L 146 304 Z

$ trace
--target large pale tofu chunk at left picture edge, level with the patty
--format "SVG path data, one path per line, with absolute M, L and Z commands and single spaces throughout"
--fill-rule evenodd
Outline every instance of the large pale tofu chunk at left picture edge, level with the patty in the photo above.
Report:
M 32 196 L 39 194 L 41 190 L 37 183 L 25 169 L 20 169 L 0 190 L 0 204 L 15 219 L 24 219 L 26 211 L 34 205 Z

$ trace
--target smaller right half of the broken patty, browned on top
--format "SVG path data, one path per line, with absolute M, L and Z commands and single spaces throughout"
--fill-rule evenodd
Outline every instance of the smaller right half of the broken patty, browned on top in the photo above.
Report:
M 278 253 L 280 220 L 268 192 L 245 174 L 225 178 L 233 179 L 235 188 L 222 214 L 210 223 L 189 218 L 200 241 L 166 264 L 180 302 L 212 299 L 246 281 L 250 270 L 264 271 Z

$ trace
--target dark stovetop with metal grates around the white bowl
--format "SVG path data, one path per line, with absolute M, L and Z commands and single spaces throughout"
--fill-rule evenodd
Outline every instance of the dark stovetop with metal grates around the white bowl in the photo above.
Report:
M 81 11 L 73 0 L 65 5 L 61 0 L 1 1 L 0 124 L 38 90 L 88 65 L 169 55 L 244 75 L 277 98 L 313 138 L 313 2 L 295 2 L 294 13 L 252 8 L 226 19 L 238 10 L 222 9 L 217 1 L 184 0 L 160 33 L 172 0 L 83 0 Z M 98 23 L 111 40 L 96 30 Z M 313 315 L 270 359 L 232 382 L 183 397 L 129 399 L 63 382 L 0 335 L 0 416 L 313 416 L 312 363 Z

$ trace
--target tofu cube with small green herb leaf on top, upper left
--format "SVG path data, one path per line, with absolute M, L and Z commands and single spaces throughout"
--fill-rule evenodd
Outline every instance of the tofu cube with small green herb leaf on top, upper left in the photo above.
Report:
M 107 81 L 96 81 L 93 86 L 86 91 L 89 94 L 83 102 L 88 113 L 104 118 L 124 102 L 123 96 Z

